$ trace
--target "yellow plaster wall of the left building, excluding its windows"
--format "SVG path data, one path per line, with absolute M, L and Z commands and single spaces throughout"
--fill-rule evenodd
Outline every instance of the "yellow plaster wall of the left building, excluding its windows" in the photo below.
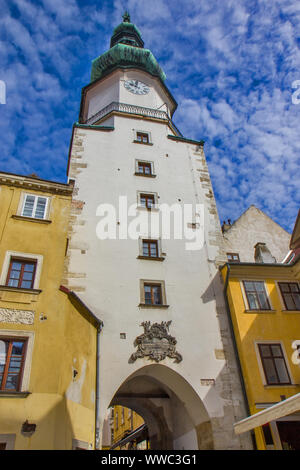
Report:
M 16 450 L 71 449 L 77 438 L 94 446 L 96 329 L 59 290 L 63 276 L 68 196 L 48 196 L 48 222 L 20 216 L 23 188 L 0 187 L 0 267 L 6 283 L 7 252 L 42 259 L 37 292 L 0 286 L 0 338 L 28 337 L 20 392 L 2 392 L 0 434 L 15 434 Z M 74 375 L 76 371 L 77 375 Z M 22 424 L 36 424 L 32 436 Z

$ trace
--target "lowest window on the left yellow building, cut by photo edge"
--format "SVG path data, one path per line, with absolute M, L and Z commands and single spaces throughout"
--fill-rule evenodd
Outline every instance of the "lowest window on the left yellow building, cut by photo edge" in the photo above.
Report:
M 26 339 L 0 338 L 0 390 L 21 389 L 26 345 Z

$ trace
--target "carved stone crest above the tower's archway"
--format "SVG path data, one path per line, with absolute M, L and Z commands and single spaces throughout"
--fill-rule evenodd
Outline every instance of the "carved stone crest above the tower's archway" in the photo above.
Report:
M 171 323 L 171 320 L 152 325 L 150 321 L 141 323 L 144 333 L 135 339 L 134 346 L 137 347 L 137 351 L 131 355 L 129 362 L 147 356 L 149 360 L 155 362 L 160 362 L 166 357 L 175 359 L 176 363 L 181 362 L 182 356 L 176 351 L 177 341 L 169 335 Z

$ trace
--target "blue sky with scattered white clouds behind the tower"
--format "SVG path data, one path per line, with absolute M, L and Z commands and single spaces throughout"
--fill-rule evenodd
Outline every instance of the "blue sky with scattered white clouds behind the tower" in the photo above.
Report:
M 0 171 L 66 182 L 81 88 L 126 8 L 167 75 L 175 124 L 206 142 L 221 221 L 254 204 L 291 231 L 300 206 L 296 0 L 0 0 Z

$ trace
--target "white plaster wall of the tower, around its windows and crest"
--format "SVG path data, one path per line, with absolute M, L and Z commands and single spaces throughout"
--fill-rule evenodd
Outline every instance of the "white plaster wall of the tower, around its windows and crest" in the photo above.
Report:
M 153 145 L 133 143 L 136 129 L 150 132 Z M 70 178 L 76 181 L 80 210 L 74 213 L 70 227 L 66 282 L 70 289 L 80 293 L 105 325 L 100 379 L 103 419 L 120 385 L 133 372 L 149 364 L 147 358 L 129 363 L 135 351 L 134 340 L 143 333 L 141 322 L 172 320 L 170 334 L 177 340 L 183 361 L 176 364 L 166 358 L 160 364 L 183 377 L 206 403 L 209 417 L 219 420 L 219 436 L 230 433 L 228 447 L 247 447 L 249 442 L 243 443 L 233 435 L 232 424 L 238 417 L 245 417 L 245 411 L 218 284 L 217 264 L 224 254 L 203 148 L 173 141 L 168 134 L 163 123 L 119 116 L 115 117 L 112 132 L 75 130 Z M 135 159 L 153 161 L 156 178 L 135 176 Z M 120 195 L 126 195 L 128 204 L 133 204 L 138 191 L 157 193 L 159 203 L 203 204 L 202 248 L 188 251 L 186 240 L 162 240 L 166 257 L 163 262 L 157 262 L 137 259 L 138 240 L 99 240 L 96 236 L 100 220 L 96 215 L 98 205 L 109 203 L 118 208 Z M 116 225 L 117 222 L 125 223 L 120 215 L 116 217 Z M 164 280 L 169 307 L 139 307 L 140 279 Z M 120 339 L 120 333 L 126 333 L 126 339 Z M 223 354 L 216 355 L 216 350 Z M 203 379 L 211 379 L 210 385 Z M 236 390 L 234 398 L 228 381 Z M 193 419 L 198 415 L 196 408 Z M 229 414 L 225 411 L 228 408 Z M 203 421 L 207 421 L 207 415 L 199 417 L 195 425 Z M 221 439 L 216 447 L 222 448 Z

